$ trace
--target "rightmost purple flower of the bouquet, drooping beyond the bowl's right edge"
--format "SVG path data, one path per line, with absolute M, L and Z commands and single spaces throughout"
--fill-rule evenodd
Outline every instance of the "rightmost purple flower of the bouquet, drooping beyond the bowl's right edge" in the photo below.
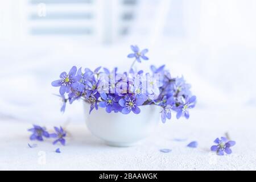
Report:
M 191 98 L 187 97 L 184 104 L 180 104 L 176 107 L 177 115 L 176 118 L 179 119 L 182 115 L 185 116 L 185 118 L 189 118 L 189 112 L 188 109 L 191 109 L 195 107 L 196 105 L 196 96 L 192 96 Z

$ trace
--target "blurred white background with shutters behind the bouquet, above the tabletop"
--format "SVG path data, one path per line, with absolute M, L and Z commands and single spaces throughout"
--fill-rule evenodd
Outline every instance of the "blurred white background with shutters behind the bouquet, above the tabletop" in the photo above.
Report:
M 0 0 L 0 121 L 81 120 L 51 81 L 72 65 L 125 70 L 130 44 L 183 75 L 197 108 L 256 106 L 254 0 Z M 253 113 L 248 113 L 253 114 Z

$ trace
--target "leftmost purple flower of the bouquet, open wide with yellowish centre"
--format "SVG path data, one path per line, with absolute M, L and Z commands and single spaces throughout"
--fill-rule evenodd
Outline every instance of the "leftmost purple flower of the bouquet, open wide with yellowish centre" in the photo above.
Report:
M 60 86 L 60 95 L 63 96 L 68 93 L 76 81 L 79 81 L 76 77 L 77 68 L 74 66 L 69 73 L 63 72 L 60 74 L 60 80 L 52 82 L 52 86 Z

